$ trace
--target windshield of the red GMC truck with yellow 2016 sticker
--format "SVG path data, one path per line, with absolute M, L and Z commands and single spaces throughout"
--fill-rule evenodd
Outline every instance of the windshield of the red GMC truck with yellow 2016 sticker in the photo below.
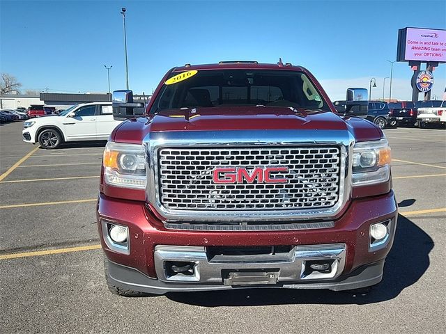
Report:
M 187 79 L 176 80 L 179 74 Z M 187 77 L 188 75 L 188 77 Z M 199 70 L 174 72 L 150 113 L 218 106 L 285 106 L 330 110 L 303 72 L 289 70 Z

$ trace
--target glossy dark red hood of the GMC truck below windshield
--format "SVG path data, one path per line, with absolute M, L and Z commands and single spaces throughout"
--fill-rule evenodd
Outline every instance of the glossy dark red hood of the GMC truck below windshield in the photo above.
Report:
M 121 143 L 141 143 L 148 132 L 224 130 L 339 130 L 349 131 L 357 141 L 378 140 L 382 132 L 367 120 L 344 120 L 331 111 L 289 107 L 226 106 L 167 110 L 147 118 L 123 122 L 112 133 Z

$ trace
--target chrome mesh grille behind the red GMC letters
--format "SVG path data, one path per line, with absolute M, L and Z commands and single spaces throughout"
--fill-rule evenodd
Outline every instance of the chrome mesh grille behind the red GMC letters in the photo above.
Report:
M 249 148 L 160 148 L 157 154 L 160 205 L 167 210 L 325 209 L 339 202 L 341 150 L 337 146 L 263 146 Z M 286 166 L 284 183 L 242 180 L 216 184 L 215 168 Z M 261 217 L 259 217 L 261 218 Z

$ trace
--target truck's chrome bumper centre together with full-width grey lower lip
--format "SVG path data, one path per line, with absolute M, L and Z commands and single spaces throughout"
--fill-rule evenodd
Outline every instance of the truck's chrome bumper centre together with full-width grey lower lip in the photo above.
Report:
M 345 244 L 296 246 L 289 254 L 292 255 L 291 259 L 282 262 L 215 263 L 209 260 L 205 249 L 201 247 L 158 246 L 155 251 L 158 279 L 149 278 L 137 269 L 111 262 L 107 258 L 105 264 L 110 284 L 148 294 L 252 287 L 341 291 L 376 285 L 383 278 L 385 259 L 342 275 L 346 260 Z M 330 270 L 326 273 L 306 271 L 307 264 L 317 259 L 332 261 Z M 194 273 L 197 275 L 169 276 L 165 266 L 170 260 L 193 261 L 196 269 Z M 176 261 L 174 263 L 178 264 Z

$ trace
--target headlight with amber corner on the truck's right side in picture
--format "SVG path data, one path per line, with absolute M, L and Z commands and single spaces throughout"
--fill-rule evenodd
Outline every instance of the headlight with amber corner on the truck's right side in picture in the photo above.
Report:
M 356 143 L 353 148 L 353 186 L 387 182 L 390 146 L 386 139 Z

